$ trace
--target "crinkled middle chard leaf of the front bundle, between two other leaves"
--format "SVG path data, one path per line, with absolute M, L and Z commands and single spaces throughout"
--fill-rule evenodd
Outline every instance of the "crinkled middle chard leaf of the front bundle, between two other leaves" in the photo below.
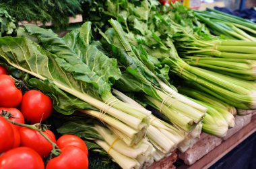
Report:
M 25 30 L 28 34 L 35 36 L 43 48 L 58 57 L 56 60 L 59 62 L 61 68 L 71 73 L 75 79 L 84 81 L 87 83 L 87 86 L 91 86 L 87 88 L 87 90 L 94 90 L 91 93 L 96 94 L 98 92 L 101 95 L 110 91 L 108 83 L 92 71 L 88 65 L 83 63 L 82 59 L 52 30 L 46 30 L 32 25 L 26 25 Z

